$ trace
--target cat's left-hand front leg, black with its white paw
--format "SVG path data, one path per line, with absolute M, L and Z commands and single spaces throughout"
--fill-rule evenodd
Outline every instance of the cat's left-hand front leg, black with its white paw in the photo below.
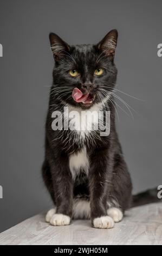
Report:
M 67 159 L 57 159 L 57 162 L 51 164 L 56 209 L 49 222 L 51 225 L 69 225 L 73 209 L 73 181 Z

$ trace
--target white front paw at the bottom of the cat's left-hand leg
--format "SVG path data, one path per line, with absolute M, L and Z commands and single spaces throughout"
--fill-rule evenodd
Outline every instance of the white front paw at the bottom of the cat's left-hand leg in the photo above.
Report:
M 63 214 L 54 214 L 51 217 L 50 224 L 54 226 L 63 226 L 70 224 L 70 217 Z

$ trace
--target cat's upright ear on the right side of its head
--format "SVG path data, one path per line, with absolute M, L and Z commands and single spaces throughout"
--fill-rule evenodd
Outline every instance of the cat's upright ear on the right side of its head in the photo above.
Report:
M 98 48 L 113 60 L 118 40 L 118 31 L 113 29 L 99 42 Z

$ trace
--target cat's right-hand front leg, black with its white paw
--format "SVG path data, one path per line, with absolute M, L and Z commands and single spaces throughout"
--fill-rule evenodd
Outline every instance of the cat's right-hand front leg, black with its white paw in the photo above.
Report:
M 108 171 L 107 150 L 98 150 L 91 157 L 89 171 L 90 214 L 94 228 L 113 228 L 113 218 L 107 215 L 106 197 L 108 180 L 112 173 Z

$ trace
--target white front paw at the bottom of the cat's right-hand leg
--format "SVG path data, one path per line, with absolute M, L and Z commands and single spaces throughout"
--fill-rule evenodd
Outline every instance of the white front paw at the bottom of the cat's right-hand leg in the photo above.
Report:
M 102 216 L 93 220 L 94 228 L 113 228 L 114 221 L 109 216 Z

